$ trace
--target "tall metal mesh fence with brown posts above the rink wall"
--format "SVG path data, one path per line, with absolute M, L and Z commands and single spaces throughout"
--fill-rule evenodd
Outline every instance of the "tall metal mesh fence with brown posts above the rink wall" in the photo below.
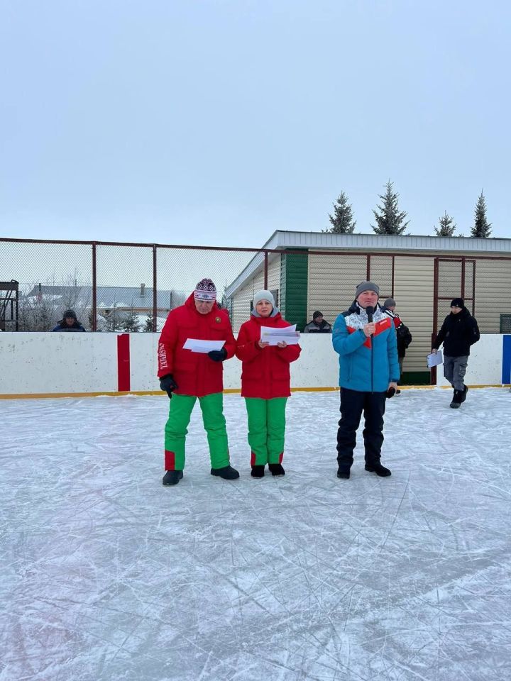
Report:
M 373 279 L 382 299 L 407 291 L 407 300 L 400 300 L 407 318 L 418 309 L 415 301 L 424 301 L 429 314 L 422 319 L 421 312 L 419 326 L 424 323 L 429 337 L 458 296 L 483 333 L 499 333 L 502 315 L 493 301 L 510 312 L 510 272 L 511 258 L 485 255 L 0 238 L 0 328 L 48 331 L 65 309 L 74 309 L 88 331 L 160 331 L 168 312 L 199 279 L 210 277 L 235 331 L 250 314 L 257 288 L 275 291 L 300 328 L 315 309 L 333 321 L 353 300 L 356 284 Z

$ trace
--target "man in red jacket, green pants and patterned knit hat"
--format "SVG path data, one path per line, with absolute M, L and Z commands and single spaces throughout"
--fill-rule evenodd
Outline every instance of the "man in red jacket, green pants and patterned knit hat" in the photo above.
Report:
M 224 346 L 193 353 L 183 348 L 188 338 L 224 341 Z M 234 355 L 235 348 L 229 315 L 216 304 L 216 287 L 211 279 L 202 279 L 185 304 L 170 311 L 158 343 L 160 387 L 173 396 L 165 425 L 163 485 L 177 485 L 183 476 L 187 426 L 197 399 L 207 431 L 211 475 L 224 480 L 239 477 L 229 465 L 222 380 L 222 362 Z

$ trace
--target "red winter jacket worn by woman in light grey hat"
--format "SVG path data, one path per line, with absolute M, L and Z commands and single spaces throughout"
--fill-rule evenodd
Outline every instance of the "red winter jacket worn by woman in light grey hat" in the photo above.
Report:
M 262 350 L 258 346 L 261 326 L 275 326 L 283 328 L 290 323 L 282 319 L 280 312 L 274 317 L 255 317 L 246 321 L 238 333 L 236 343 L 236 357 L 243 362 L 241 366 L 241 396 L 261 397 L 289 397 L 290 392 L 290 362 L 300 356 L 300 345 L 287 345 L 278 348 L 268 345 Z

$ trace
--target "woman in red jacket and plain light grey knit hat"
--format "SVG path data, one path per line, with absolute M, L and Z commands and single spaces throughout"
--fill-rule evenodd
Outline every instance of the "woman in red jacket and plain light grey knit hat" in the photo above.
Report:
M 265 465 L 272 475 L 285 475 L 285 408 L 290 396 L 290 362 L 298 359 L 300 345 L 285 341 L 270 345 L 260 340 L 261 326 L 290 326 L 275 307 L 269 291 L 253 299 L 251 319 L 238 333 L 236 356 L 241 360 L 241 396 L 248 414 L 248 444 L 251 446 L 252 477 L 263 477 Z

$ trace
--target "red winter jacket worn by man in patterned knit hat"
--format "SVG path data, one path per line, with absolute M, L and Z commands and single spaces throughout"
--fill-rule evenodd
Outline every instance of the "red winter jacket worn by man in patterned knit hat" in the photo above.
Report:
M 187 338 L 225 341 L 226 359 L 233 357 L 236 341 L 227 311 L 215 303 L 211 312 L 200 314 L 191 294 L 184 305 L 170 311 L 158 342 L 158 376 L 172 374 L 178 386 L 176 394 L 204 397 L 222 392 L 223 362 L 214 362 L 203 353 L 183 350 Z

